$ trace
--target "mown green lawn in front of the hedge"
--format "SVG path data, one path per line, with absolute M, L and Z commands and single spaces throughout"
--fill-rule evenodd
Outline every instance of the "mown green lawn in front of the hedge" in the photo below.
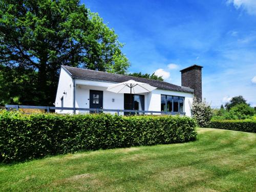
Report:
M 0 191 L 256 191 L 256 134 L 198 132 L 189 143 L 0 165 Z

